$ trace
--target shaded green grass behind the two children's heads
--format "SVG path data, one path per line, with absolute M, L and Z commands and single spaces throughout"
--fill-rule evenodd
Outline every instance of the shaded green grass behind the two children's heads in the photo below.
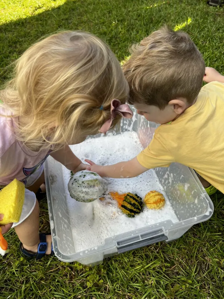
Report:
M 223 9 L 208 7 L 203 0 L 67 0 L 52 10 L 0 26 L 0 84 L 10 77 L 10 68 L 6 67 L 49 33 L 58 30 L 92 32 L 104 39 L 121 61 L 128 57 L 130 44 L 164 23 L 188 32 L 206 64 L 222 71 L 222 11 L 224 13 Z

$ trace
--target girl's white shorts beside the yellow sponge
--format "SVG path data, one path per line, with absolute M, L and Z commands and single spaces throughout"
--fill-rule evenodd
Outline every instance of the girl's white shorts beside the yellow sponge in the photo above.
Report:
M 26 187 L 29 187 L 33 185 L 36 180 L 39 179 L 39 177 L 42 175 L 44 170 L 44 166 L 42 165 L 35 173 L 31 174 L 29 178 L 27 179 L 27 184 L 25 185 Z M 32 191 L 25 189 L 25 198 L 24 198 L 24 203 L 23 203 L 23 209 L 22 213 L 19 219 L 19 222 L 14 222 L 12 227 L 15 227 L 22 223 L 25 219 L 27 219 L 28 216 L 33 212 L 33 209 L 35 208 L 36 205 L 36 195 Z

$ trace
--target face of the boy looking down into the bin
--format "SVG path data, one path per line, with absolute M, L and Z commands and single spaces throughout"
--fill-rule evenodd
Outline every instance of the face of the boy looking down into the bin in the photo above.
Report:
M 148 121 L 154 123 L 164 124 L 169 123 L 177 117 L 174 112 L 173 105 L 167 105 L 165 109 L 160 110 L 157 106 L 151 106 L 146 104 L 134 104 L 137 109 L 137 113 L 143 115 Z

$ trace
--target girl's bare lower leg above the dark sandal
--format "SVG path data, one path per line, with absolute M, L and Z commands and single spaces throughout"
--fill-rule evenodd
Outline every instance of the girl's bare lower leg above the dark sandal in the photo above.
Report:
M 35 208 L 21 224 L 15 227 L 16 234 L 23 244 L 23 248 L 32 253 L 37 252 L 39 239 L 39 204 L 36 201 Z M 51 235 L 46 235 L 47 251 L 51 253 Z

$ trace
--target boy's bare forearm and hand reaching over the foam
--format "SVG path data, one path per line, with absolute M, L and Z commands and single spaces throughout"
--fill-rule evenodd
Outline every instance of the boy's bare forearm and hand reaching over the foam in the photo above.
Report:
M 91 171 L 98 173 L 102 177 L 115 179 L 134 178 L 148 170 L 148 168 L 143 167 L 139 163 L 136 157 L 130 161 L 108 166 L 96 165 L 94 162 L 87 159 L 85 161 L 91 165 Z

